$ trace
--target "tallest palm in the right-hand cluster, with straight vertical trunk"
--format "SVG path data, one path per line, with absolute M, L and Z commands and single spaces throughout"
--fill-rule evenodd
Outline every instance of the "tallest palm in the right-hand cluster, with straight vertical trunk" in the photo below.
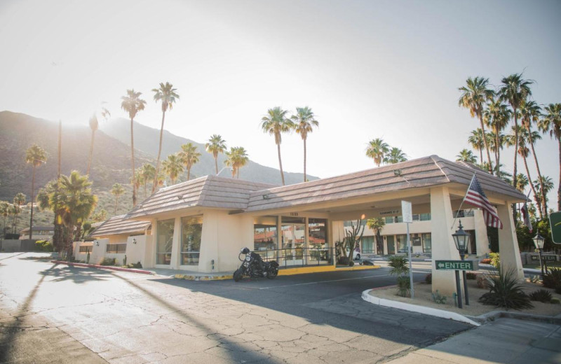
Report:
M 511 76 L 503 77 L 499 87 L 499 97 L 501 100 L 508 102 L 513 109 L 514 118 L 514 170 L 513 170 L 513 186 L 516 186 L 516 176 L 518 174 L 517 156 L 518 156 L 518 109 L 527 97 L 532 95 L 530 85 L 534 83 L 532 80 L 522 79 L 522 73 L 514 73 Z

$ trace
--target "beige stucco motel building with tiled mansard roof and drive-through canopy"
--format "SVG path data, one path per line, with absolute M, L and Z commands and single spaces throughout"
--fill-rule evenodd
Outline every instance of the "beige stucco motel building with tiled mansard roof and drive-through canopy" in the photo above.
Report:
M 93 241 L 76 242 L 76 259 L 117 258 L 142 267 L 189 272 L 234 272 L 241 248 L 248 246 L 280 267 L 335 265 L 335 242 L 345 225 L 361 216 L 386 218 L 383 251 L 375 251 L 367 229 L 363 251 L 406 253 L 401 201 L 412 203 L 413 253 L 431 253 L 433 290 L 451 295 L 454 272 L 435 270 L 434 260 L 459 260 L 452 234 L 474 173 L 503 223 L 499 230 L 501 266 L 523 279 L 511 204 L 525 195 L 471 165 L 431 155 L 395 165 L 290 186 L 203 176 L 162 188 L 124 216 L 96 228 Z M 466 207 L 467 209 L 468 207 Z M 462 210 L 464 229 L 472 234 L 471 253 L 489 251 L 479 210 Z M 370 240 L 370 242 L 369 242 Z

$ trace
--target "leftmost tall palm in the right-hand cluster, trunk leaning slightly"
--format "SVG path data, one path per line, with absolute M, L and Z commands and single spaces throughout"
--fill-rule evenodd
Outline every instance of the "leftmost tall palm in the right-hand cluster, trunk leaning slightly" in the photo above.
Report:
M 485 144 L 485 150 L 487 151 L 487 161 L 489 162 L 489 167 L 491 165 L 491 155 L 489 154 L 489 145 L 487 144 L 487 139 L 485 138 L 485 125 L 483 124 L 483 106 L 485 103 L 492 99 L 494 91 L 487 88 L 489 85 L 489 78 L 483 77 L 468 77 L 466 80 L 466 86 L 459 87 L 458 90 L 462 92 L 461 97 L 458 101 L 459 106 L 464 106 L 469 109 L 471 117 L 477 117 L 481 125 L 481 132 L 483 137 L 483 143 Z M 492 170 L 489 170 L 490 174 L 493 174 Z

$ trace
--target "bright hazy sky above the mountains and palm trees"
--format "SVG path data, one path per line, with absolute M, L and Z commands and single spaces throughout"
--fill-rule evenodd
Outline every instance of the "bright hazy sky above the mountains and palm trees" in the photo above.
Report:
M 468 76 L 499 85 L 524 71 L 536 102 L 561 102 L 560 15 L 561 1 L 0 0 L 0 110 L 86 124 L 100 102 L 127 117 L 134 88 L 147 100 L 137 121 L 159 128 L 150 90 L 168 81 L 181 98 L 165 129 L 221 134 L 262 165 L 278 167 L 266 110 L 306 105 L 320 122 L 309 174 L 372 167 L 377 137 L 454 160 L 479 125 L 458 107 Z M 283 136 L 286 171 L 302 172 L 302 150 Z M 536 153 L 556 191 L 557 144 L 544 136 Z M 512 149 L 502 155 L 512 169 Z

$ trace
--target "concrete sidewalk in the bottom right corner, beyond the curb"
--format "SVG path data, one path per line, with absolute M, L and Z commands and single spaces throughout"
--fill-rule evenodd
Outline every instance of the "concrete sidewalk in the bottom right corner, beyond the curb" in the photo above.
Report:
M 391 364 L 561 363 L 561 326 L 499 318 Z

